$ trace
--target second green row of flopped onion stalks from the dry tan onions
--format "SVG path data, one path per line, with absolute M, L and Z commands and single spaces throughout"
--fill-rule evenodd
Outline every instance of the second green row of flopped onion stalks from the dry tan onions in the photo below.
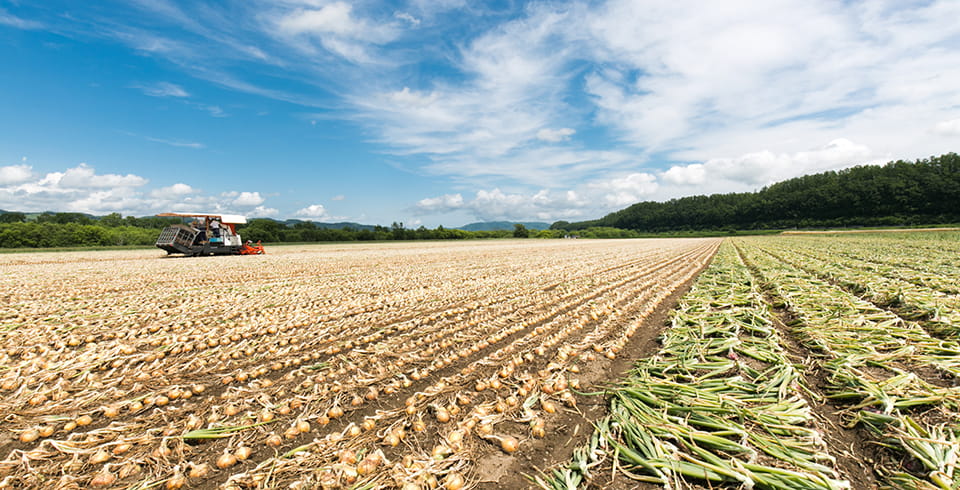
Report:
M 888 449 L 875 466 L 888 488 L 955 488 L 960 455 L 960 345 L 764 252 L 739 243 L 792 328 L 823 356 L 829 398 Z M 783 245 L 788 246 L 788 245 Z

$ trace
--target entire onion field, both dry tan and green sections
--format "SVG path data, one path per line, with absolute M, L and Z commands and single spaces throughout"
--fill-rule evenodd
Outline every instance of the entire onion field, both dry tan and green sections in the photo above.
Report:
M 960 486 L 960 233 L 0 255 L 0 488 Z

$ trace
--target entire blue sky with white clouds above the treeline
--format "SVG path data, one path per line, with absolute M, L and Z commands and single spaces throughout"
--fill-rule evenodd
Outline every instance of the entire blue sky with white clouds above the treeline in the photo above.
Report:
M 960 2 L 0 0 L 0 209 L 459 226 L 958 150 Z

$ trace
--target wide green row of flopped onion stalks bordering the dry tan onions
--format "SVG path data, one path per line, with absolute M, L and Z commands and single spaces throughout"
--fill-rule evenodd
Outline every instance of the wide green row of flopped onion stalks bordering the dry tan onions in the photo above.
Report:
M 681 300 L 659 353 L 609 391 L 610 415 L 590 442 L 538 484 L 576 488 L 612 464 L 614 478 L 667 488 L 849 488 L 771 318 L 725 244 Z

